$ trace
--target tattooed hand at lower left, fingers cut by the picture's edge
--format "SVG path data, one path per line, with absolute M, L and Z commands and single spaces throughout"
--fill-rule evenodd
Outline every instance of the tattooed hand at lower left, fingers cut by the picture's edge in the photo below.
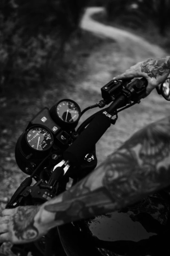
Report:
M 37 221 L 39 206 L 20 206 L 5 209 L 0 217 L 0 243 L 30 243 L 48 232 L 47 226 Z

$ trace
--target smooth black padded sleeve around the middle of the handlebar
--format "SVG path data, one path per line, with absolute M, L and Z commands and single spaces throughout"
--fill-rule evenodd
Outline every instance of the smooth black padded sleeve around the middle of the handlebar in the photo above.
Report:
M 85 128 L 79 137 L 73 142 L 63 154 L 64 160 L 80 164 L 92 147 L 98 142 L 105 131 L 110 127 L 110 119 L 104 114 L 98 114 Z

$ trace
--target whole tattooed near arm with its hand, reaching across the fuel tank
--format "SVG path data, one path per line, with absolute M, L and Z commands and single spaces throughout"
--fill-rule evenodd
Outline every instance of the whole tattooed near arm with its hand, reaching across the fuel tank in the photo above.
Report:
M 136 132 L 89 176 L 42 206 L 4 210 L 0 242 L 34 241 L 52 227 L 115 211 L 170 185 L 169 131 L 170 116 Z

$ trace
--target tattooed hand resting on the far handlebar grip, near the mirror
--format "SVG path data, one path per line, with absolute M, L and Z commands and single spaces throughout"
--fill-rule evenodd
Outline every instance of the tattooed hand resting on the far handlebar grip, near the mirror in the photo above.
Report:
M 170 56 L 161 59 L 148 59 L 138 62 L 125 73 L 113 79 L 145 77 L 148 80 L 146 96 L 159 84 L 164 82 L 170 73 Z

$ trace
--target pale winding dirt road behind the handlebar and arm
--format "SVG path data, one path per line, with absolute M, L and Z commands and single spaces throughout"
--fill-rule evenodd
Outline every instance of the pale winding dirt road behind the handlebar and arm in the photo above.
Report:
M 81 109 L 100 100 L 100 88 L 112 77 L 124 72 L 136 62 L 166 56 L 163 49 L 150 44 L 141 37 L 92 20 L 92 14 L 101 10 L 103 9 L 88 8 L 81 22 L 83 29 L 100 37 L 110 38 L 110 42 L 96 48 L 96 51 L 88 58 L 86 63 L 88 75 L 83 81 L 78 81 L 72 95 L 72 98 L 80 104 Z M 103 161 L 136 130 L 166 116 L 169 104 L 155 91 L 139 105 L 121 112 L 116 125 L 109 128 L 97 144 L 98 162 Z M 88 113 L 84 115 L 84 119 L 87 115 Z

